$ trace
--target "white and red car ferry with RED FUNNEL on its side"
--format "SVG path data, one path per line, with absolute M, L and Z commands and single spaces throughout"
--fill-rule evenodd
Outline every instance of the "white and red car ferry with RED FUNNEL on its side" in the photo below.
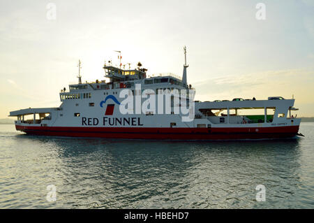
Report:
M 182 77 L 147 76 L 147 69 L 125 69 L 105 62 L 105 80 L 78 82 L 59 93 L 55 108 L 11 111 L 15 128 L 30 135 L 154 140 L 243 140 L 294 138 L 300 118 L 294 99 L 195 101 L 188 85 L 186 48 Z M 122 69 L 123 67 L 123 69 Z M 106 81 L 107 80 L 107 81 Z M 109 80 L 109 81 L 108 81 Z M 126 99 L 128 98 L 128 99 Z M 161 102 L 160 102 L 161 101 Z

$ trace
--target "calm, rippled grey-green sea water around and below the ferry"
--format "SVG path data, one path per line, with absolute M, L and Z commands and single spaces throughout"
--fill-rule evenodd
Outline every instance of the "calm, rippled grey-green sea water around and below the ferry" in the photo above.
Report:
M 27 136 L 0 125 L 0 208 L 314 208 L 305 138 L 159 142 Z M 266 201 L 257 202 L 257 185 Z M 46 200 L 47 185 L 57 201 Z

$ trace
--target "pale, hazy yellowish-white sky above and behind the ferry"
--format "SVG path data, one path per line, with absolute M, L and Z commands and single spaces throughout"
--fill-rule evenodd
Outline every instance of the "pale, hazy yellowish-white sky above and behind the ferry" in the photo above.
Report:
M 314 117 L 314 0 L 20 0 L 0 1 L 0 118 L 59 106 L 78 59 L 82 81 L 104 80 L 114 50 L 148 75 L 182 75 L 184 45 L 195 100 L 293 96 Z

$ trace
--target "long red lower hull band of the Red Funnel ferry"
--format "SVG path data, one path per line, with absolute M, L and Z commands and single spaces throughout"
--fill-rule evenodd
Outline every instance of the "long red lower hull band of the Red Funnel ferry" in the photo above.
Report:
M 27 127 L 16 126 L 27 134 L 44 136 L 215 140 L 244 138 L 290 138 L 299 126 L 263 128 L 127 128 L 127 127 Z

